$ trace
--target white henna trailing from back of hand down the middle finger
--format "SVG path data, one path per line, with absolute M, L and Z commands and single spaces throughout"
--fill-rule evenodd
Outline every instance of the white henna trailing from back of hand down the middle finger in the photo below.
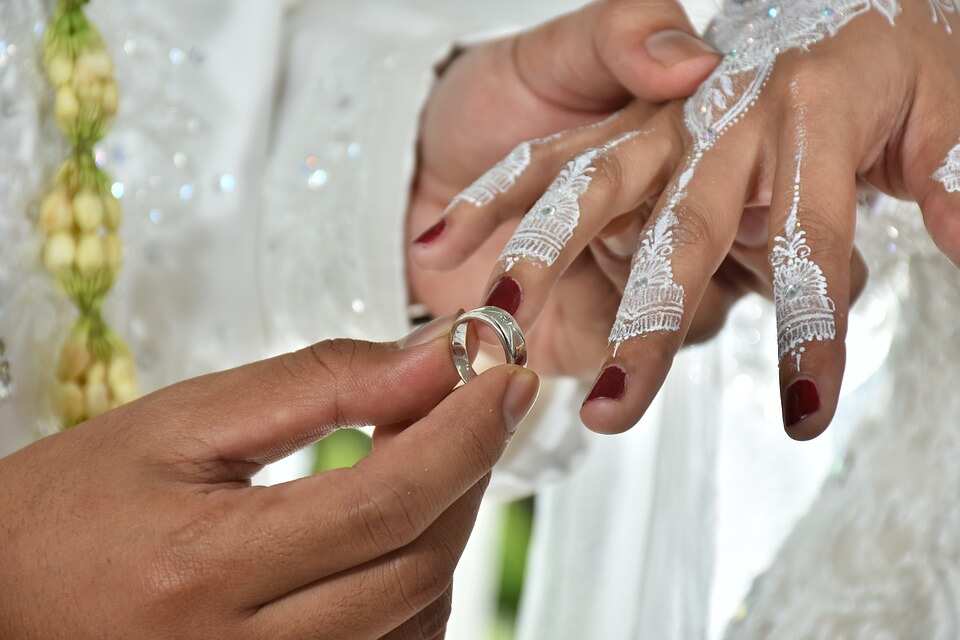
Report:
M 893 24 L 900 5 L 897 0 L 728 0 L 724 3 L 707 34 L 707 39 L 724 53 L 724 58 L 684 105 L 684 121 L 694 140 L 693 154 L 634 256 L 630 279 L 610 333 L 614 354 L 631 338 L 680 329 L 683 287 L 673 280 L 673 229 L 679 224 L 677 207 L 703 154 L 756 104 L 778 56 L 790 49 L 808 49 L 836 35 L 851 20 L 871 9 Z M 658 274 L 655 284 L 649 280 L 651 273 Z

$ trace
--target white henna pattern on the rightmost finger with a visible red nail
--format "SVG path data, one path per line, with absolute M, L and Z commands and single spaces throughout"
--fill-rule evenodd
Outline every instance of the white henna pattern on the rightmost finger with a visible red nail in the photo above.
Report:
M 793 200 L 784 225 L 784 235 L 774 238 L 770 266 L 773 267 L 773 302 L 777 309 L 777 345 L 782 360 L 790 355 L 800 370 L 805 344 L 837 337 L 836 304 L 827 296 L 823 270 L 810 259 L 806 232 L 800 228 L 800 173 L 806 155 L 804 112 L 798 111 L 796 173 Z

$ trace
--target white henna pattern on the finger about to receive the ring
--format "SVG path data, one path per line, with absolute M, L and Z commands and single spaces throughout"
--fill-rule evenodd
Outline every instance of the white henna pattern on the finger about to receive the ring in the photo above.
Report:
M 596 171 L 594 162 L 614 147 L 639 135 L 626 133 L 601 147 L 584 151 L 567 163 L 550 188 L 520 221 L 500 259 L 506 271 L 521 260 L 551 266 L 560 257 L 580 223 L 580 196 L 586 193 Z

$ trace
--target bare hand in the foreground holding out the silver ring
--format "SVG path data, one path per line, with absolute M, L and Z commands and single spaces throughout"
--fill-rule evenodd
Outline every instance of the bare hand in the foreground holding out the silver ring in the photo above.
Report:
M 442 637 L 490 469 L 538 382 L 504 366 L 451 394 L 438 323 L 190 380 L 0 460 L 0 637 Z M 387 426 L 354 468 L 249 485 L 360 424 Z

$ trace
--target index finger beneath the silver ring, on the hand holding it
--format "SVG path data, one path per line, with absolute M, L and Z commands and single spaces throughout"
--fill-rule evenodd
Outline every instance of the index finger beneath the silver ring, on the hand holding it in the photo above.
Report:
M 234 562 L 269 571 L 258 595 L 275 598 L 410 544 L 490 473 L 538 389 L 528 369 L 491 369 L 354 468 L 258 490 L 251 528 L 275 543 Z

